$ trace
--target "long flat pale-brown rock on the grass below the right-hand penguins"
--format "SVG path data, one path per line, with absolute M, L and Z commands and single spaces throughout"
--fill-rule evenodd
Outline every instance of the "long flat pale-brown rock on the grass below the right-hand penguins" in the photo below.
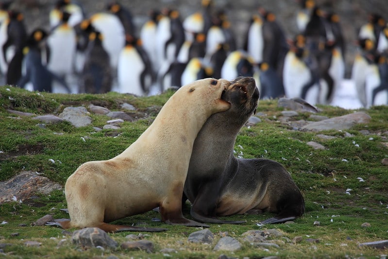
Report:
M 321 131 L 321 130 L 342 130 L 349 129 L 358 123 L 368 123 L 371 116 L 365 112 L 355 112 L 340 117 L 335 117 L 323 121 L 317 121 L 302 127 L 304 130 Z

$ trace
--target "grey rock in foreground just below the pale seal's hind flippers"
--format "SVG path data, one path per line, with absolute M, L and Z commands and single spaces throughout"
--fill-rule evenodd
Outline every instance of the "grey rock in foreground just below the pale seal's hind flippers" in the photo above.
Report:
M 86 227 L 74 231 L 71 239 L 74 244 L 84 248 L 101 246 L 103 248 L 116 249 L 118 243 L 111 239 L 108 234 L 98 227 Z

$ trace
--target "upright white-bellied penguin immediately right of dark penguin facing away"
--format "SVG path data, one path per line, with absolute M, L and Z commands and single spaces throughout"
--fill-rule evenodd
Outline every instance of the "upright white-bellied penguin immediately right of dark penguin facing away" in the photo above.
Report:
M 152 67 L 141 40 L 126 35 L 125 47 L 118 58 L 118 86 L 120 93 L 144 96 L 152 85 Z

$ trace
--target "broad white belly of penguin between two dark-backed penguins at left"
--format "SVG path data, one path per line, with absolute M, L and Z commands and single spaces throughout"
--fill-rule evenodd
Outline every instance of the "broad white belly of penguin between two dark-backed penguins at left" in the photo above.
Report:
M 50 46 L 48 68 L 58 75 L 72 72 L 73 58 L 76 50 L 76 35 L 71 27 L 58 27 L 47 39 Z

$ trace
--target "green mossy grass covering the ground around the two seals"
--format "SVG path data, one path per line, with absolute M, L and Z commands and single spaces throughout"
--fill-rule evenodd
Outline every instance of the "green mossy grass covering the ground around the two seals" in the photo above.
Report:
M 7 88 L 9 90 L 7 90 Z M 64 185 L 67 177 L 86 161 L 109 159 L 120 154 L 151 124 L 157 114 L 157 107 L 162 106 L 172 92 L 152 97 L 136 98 L 132 95 L 108 93 L 102 95 L 67 95 L 28 92 L 11 86 L 0 87 L 0 181 L 5 181 L 21 171 L 32 170 L 44 173 L 50 179 Z M 120 104 L 129 103 L 137 111 L 147 112 L 151 117 L 141 118 L 135 122 L 123 122 L 116 130 L 120 135 L 109 137 L 109 130 L 95 133 L 92 126 L 75 128 L 68 122 L 48 124 L 40 128 L 38 121 L 28 117 L 18 119 L 8 113 L 7 109 L 32 112 L 37 115 L 58 114 L 67 106 L 89 104 L 105 106 L 111 110 L 120 110 Z M 155 106 L 148 109 L 148 107 Z M 319 115 L 335 117 L 352 111 L 332 106 L 319 106 Z M 4 203 L 0 206 L 0 243 L 10 243 L 3 248 L 7 258 L 103 258 L 115 255 L 119 258 L 163 258 L 159 252 L 162 248 L 174 248 L 178 252 L 173 258 L 218 258 L 225 254 L 229 257 L 262 258 L 278 256 L 280 258 L 379 258 L 387 255 L 388 250 L 359 248 L 358 243 L 388 240 L 388 167 L 381 164 L 388 157 L 386 142 L 388 131 L 388 107 L 376 106 L 361 109 L 372 120 L 368 125 L 356 125 L 346 130 L 353 134 L 344 137 L 345 131 L 324 131 L 320 133 L 294 131 L 277 121 L 282 109 L 276 100 L 260 101 L 258 112 L 262 122 L 250 128 L 244 127 L 236 140 L 236 151 L 243 157 L 264 157 L 282 163 L 291 173 L 292 178 L 304 194 L 306 212 L 295 224 L 266 225 L 284 233 L 283 238 L 274 242 L 280 249 L 263 250 L 242 241 L 241 234 L 250 229 L 262 229 L 256 225 L 260 220 L 271 217 L 263 215 L 236 215 L 231 220 L 246 220 L 241 225 L 210 224 L 215 234 L 212 244 L 194 244 L 187 241 L 190 233 L 198 228 L 171 226 L 151 219 L 159 214 L 150 211 L 118 221 L 118 224 L 146 223 L 151 227 L 164 227 L 169 230 L 162 233 L 148 233 L 145 238 L 154 242 L 154 252 L 129 252 L 118 247 L 117 250 L 88 249 L 82 250 L 72 244 L 69 236 L 62 234 L 62 229 L 48 226 L 31 226 L 40 217 L 53 214 L 54 218 L 66 218 L 61 211 L 66 208 L 62 190 L 50 195 L 39 195 L 38 199 L 24 203 Z M 300 113 L 296 120 L 307 120 L 309 113 Z M 102 127 L 108 120 L 106 116 L 91 114 L 93 126 Z M 360 133 L 369 130 L 370 135 Z M 321 139 L 317 134 L 334 136 L 334 139 Z M 87 137 L 86 141 L 82 137 Z M 326 150 L 314 150 L 306 145 L 316 141 L 327 147 Z M 359 147 L 355 146 L 358 144 Z M 242 146 L 241 149 L 238 145 Z M 51 163 L 49 159 L 60 160 Z M 343 159 L 346 159 L 344 161 Z M 360 182 L 357 177 L 364 179 Z M 352 189 L 350 195 L 345 194 Z M 188 206 L 184 214 L 190 218 Z M 314 221 L 320 221 L 314 226 Z M 371 227 L 361 227 L 368 222 Z M 27 226 L 19 226 L 26 224 Z M 243 248 L 234 253 L 213 252 L 220 232 L 237 238 Z M 11 237 L 12 233 L 19 233 Z M 110 234 L 118 243 L 124 242 L 129 233 Z M 137 234 L 137 233 L 135 233 Z M 145 233 L 146 234 L 146 233 Z M 294 237 L 302 236 L 298 244 L 290 242 Z M 308 238 L 319 239 L 310 243 Z M 65 243 L 57 247 L 61 239 Z M 40 247 L 27 247 L 26 241 L 42 242 Z M 0 258 L 3 255 L 0 254 Z

